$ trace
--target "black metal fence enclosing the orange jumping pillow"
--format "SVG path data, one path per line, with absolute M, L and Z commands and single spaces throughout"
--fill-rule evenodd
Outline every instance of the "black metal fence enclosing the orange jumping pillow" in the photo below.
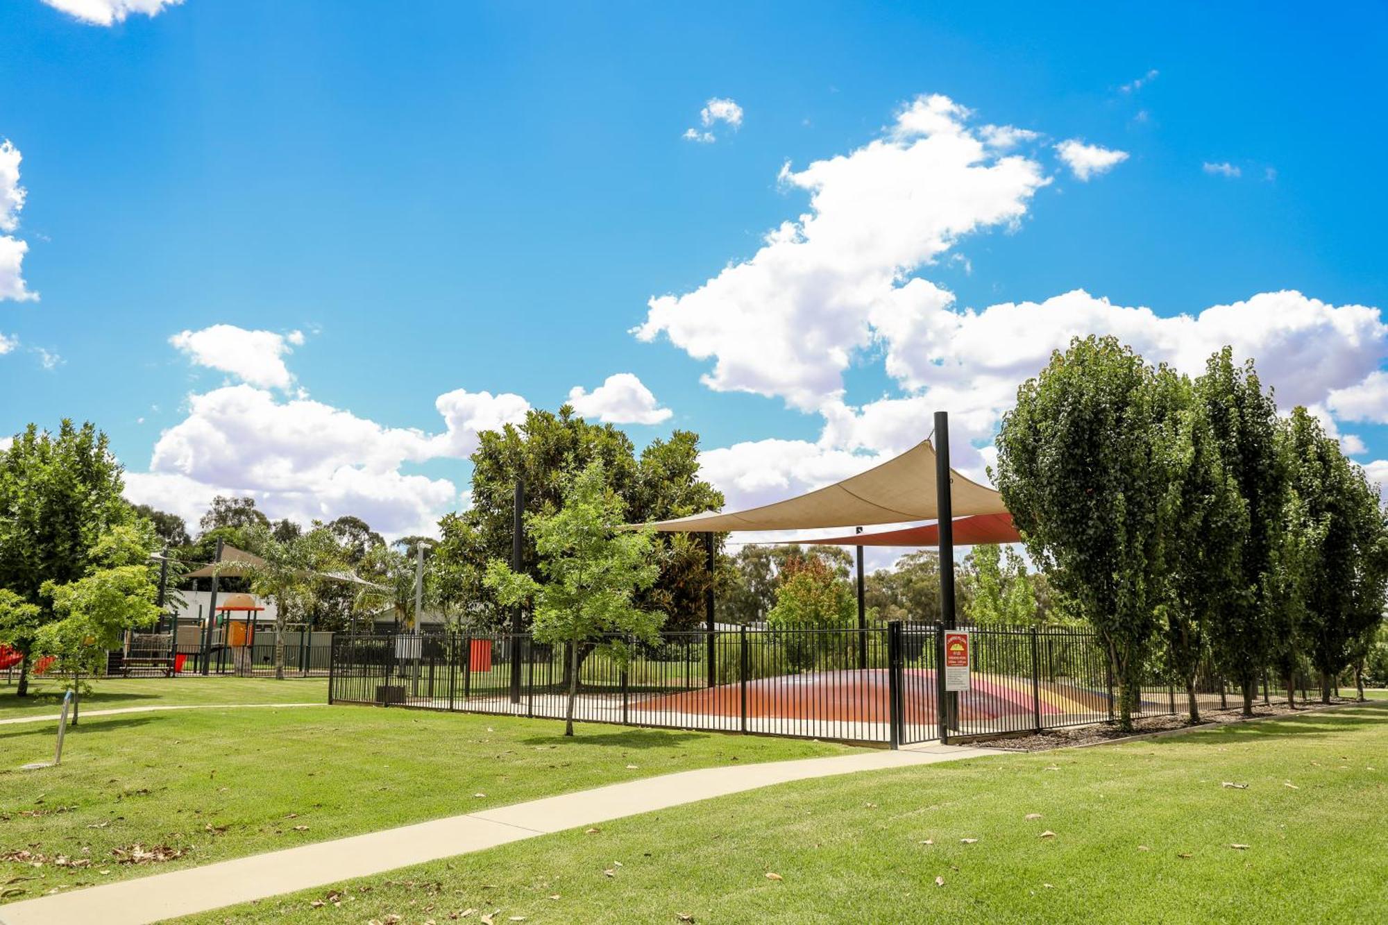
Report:
M 1067 629 L 972 628 L 969 688 L 945 690 L 934 625 L 869 629 L 672 632 L 657 644 L 611 636 L 627 653 L 580 646 L 575 719 L 890 744 L 1053 729 L 1115 718 L 1098 636 Z M 337 636 L 330 701 L 564 718 L 572 653 L 529 635 Z M 1151 672 L 1134 714 L 1187 710 L 1184 686 Z M 1210 672 L 1201 710 L 1241 703 Z M 1284 696 L 1266 685 L 1259 700 Z M 944 704 L 944 710 L 940 704 Z

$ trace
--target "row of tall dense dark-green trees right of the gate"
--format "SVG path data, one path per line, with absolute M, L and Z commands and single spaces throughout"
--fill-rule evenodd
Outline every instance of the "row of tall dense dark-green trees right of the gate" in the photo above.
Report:
M 997 485 L 1031 558 L 1101 636 L 1131 725 L 1153 664 L 1192 718 L 1202 664 L 1244 693 L 1291 692 L 1309 667 L 1330 700 L 1382 621 L 1388 525 L 1378 490 L 1306 408 L 1278 415 L 1226 347 L 1196 378 L 1113 338 L 1055 353 L 1017 390 Z

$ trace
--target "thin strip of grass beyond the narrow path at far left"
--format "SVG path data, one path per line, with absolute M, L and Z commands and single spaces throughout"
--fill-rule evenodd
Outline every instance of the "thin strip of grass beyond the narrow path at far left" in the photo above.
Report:
M 0 672 L 0 679 L 4 672 Z M 68 682 L 31 678 L 29 696 L 17 697 L 14 685 L 0 683 L 0 719 L 50 715 L 62 708 Z M 211 703 L 326 703 L 326 678 L 101 678 L 83 694 L 82 710 Z

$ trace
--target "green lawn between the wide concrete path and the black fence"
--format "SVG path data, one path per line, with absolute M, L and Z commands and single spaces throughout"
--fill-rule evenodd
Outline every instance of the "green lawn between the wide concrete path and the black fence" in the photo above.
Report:
M 172 682 L 168 700 L 196 689 L 185 683 Z M 219 683 L 208 697 L 242 701 L 242 685 L 275 685 Z M 562 731 L 552 719 L 350 706 L 87 717 L 68 731 L 60 768 L 19 771 L 51 760 L 56 724 L 0 725 L 0 856 L 92 861 L 0 861 L 0 893 L 22 889 L 3 896 L 14 901 L 669 771 L 851 751 L 593 724 L 565 740 Z M 136 843 L 185 856 L 114 862 L 112 850 Z

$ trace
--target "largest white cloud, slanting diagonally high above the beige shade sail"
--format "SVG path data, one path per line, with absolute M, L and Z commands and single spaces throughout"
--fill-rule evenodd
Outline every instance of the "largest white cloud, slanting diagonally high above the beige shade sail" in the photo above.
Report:
M 991 150 L 967 115 L 948 97 L 920 97 L 884 138 L 804 171 L 787 164 L 780 179 L 809 193 L 809 210 L 694 292 L 652 297 L 633 333 L 713 358 L 704 382 L 715 390 L 806 411 L 836 400 L 873 326 L 923 292 L 906 274 L 969 232 L 1016 224 L 1048 182 L 1037 161 Z

